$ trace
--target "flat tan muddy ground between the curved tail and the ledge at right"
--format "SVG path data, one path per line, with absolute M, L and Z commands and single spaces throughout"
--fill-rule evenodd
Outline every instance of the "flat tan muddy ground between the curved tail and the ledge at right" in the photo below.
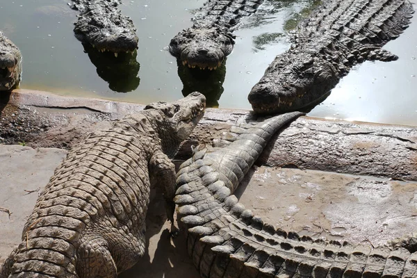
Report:
M 376 246 L 417 225 L 417 183 L 264 166 L 250 176 L 240 202 L 286 231 Z

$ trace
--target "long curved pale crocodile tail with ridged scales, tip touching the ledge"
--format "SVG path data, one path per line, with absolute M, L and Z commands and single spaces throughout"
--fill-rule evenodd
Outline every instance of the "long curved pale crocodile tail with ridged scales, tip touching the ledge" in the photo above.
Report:
M 264 223 L 231 195 L 272 134 L 299 115 L 234 126 L 220 140 L 226 147 L 197 150 L 181 165 L 174 201 L 188 254 L 201 276 L 417 277 L 417 253 L 411 254 L 411 248 L 313 240 Z M 405 240 L 409 243 L 410 237 Z

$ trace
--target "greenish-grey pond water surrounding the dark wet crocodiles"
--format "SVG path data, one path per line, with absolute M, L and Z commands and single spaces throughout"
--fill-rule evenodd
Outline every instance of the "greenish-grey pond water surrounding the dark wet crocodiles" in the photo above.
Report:
M 77 12 L 66 0 L 0 0 L 0 29 L 22 51 L 21 88 L 143 104 L 179 99 L 197 88 L 210 94 L 211 106 L 250 109 L 247 94 L 252 86 L 275 56 L 290 47 L 287 31 L 320 1 L 265 1 L 235 32 L 236 45 L 225 67 L 201 76 L 177 67 L 167 45 L 191 26 L 190 18 L 204 2 L 125 0 L 122 13 L 133 19 L 139 37 L 137 56 L 129 67 L 120 57 L 84 49 L 72 31 Z M 417 125 L 417 16 L 384 48 L 400 59 L 354 67 L 309 115 Z M 190 88 L 195 80 L 199 84 Z

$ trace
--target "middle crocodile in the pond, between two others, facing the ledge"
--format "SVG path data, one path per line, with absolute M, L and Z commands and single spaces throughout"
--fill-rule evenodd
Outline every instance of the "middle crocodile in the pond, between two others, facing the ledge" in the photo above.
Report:
M 231 54 L 232 34 L 240 19 L 252 15 L 263 0 L 208 0 L 193 18 L 193 27 L 179 32 L 170 42 L 170 53 L 183 65 L 215 70 Z

